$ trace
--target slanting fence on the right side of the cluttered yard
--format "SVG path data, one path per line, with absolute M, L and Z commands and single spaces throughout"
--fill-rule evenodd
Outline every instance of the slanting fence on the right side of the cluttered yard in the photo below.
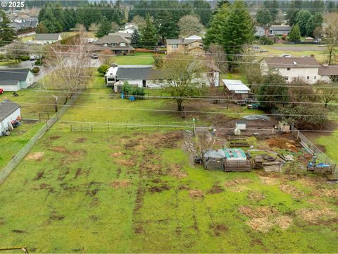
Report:
M 306 138 L 306 136 L 303 135 L 301 131 L 298 131 L 294 126 L 291 126 L 291 130 L 296 140 L 300 140 L 299 143 L 301 143 L 301 145 L 306 149 L 306 151 L 308 151 L 308 153 L 310 153 L 311 155 L 315 155 L 315 157 L 317 157 L 321 162 L 332 165 L 333 173 L 335 175 L 338 175 L 338 171 L 336 169 L 337 165 L 336 162 L 333 162 L 332 159 L 327 157 L 327 155 L 324 152 L 322 152 L 318 147 L 316 147 L 315 144 L 311 142 L 311 140 Z

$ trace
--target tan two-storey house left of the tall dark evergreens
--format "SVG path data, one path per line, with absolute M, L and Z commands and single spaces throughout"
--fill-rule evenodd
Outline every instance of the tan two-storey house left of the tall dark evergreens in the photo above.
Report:
M 195 52 L 197 54 L 204 54 L 202 38 L 192 35 L 185 39 L 167 40 L 167 54 L 175 52 Z

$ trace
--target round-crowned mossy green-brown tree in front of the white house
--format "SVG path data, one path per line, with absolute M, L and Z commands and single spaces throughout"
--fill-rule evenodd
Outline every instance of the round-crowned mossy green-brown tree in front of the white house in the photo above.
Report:
M 206 70 L 205 63 L 195 56 L 183 53 L 168 55 L 163 61 L 163 89 L 174 97 L 177 110 L 182 111 L 182 103 L 201 93 L 201 73 Z

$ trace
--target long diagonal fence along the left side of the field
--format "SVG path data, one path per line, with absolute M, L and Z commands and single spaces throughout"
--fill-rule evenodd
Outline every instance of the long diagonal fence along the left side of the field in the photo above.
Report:
M 3 183 L 9 174 L 18 166 L 18 164 L 23 160 L 32 147 L 43 137 L 43 135 L 51 128 L 51 126 L 58 121 L 58 119 L 65 114 L 67 109 L 71 107 L 80 97 L 81 93 L 75 94 L 75 96 L 70 99 L 63 107 L 56 113 L 51 119 L 46 121 L 46 124 L 35 133 L 35 135 L 26 143 L 26 145 L 21 148 L 21 150 L 6 164 L 6 166 L 0 171 L 0 184 Z

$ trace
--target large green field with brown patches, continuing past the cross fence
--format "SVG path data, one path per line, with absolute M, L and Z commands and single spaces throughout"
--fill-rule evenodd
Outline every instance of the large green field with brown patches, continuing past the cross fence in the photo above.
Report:
M 85 92 L 75 104 L 84 107 L 62 120 L 194 117 L 138 110 L 175 109 L 166 100 Z M 196 107 L 207 104 L 186 109 Z M 56 123 L 0 186 L 1 245 L 44 253 L 337 252 L 336 185 L 320 176 L 206 171 L 192 167 L 183 144 L 181 131 L 70 132 Z

